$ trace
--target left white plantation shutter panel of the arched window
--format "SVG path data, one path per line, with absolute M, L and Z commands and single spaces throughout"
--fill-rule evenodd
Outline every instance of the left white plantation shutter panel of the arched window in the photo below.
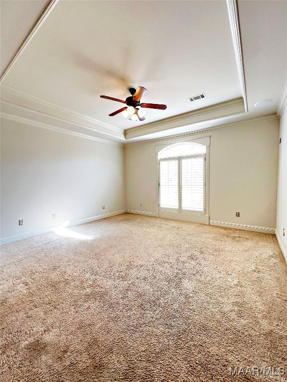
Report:
M 160 209 L 179 210 L 178 158 L 159 161 L 159 205 Z

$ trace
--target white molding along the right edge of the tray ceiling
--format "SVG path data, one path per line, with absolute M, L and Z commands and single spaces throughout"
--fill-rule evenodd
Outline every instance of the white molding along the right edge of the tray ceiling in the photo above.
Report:
M 239 25 L 239 16 L 238 16 L 238 4 L 237 4 L 237 0 L 226 0 L 226 4 L 227 4 L 227 10 L 228 10 L 228 17 L 229 17 L 237 71 L 238 71 L 239 81 L 240 81 L 241 90 L 242 90 L 243 99 L 244 99 L 245 111 L 248 112 L 241 34 L 240 34 L 240 25 Z

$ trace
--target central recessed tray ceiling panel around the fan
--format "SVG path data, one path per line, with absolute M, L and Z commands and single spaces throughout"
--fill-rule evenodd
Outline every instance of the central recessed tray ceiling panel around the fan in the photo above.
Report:
M 225 1 L 59 1 L 3 82 L 126 129 L 108 114 L 128 87 L 147 89 L 146 121 L 240 97 Z M 191 103 L 187 98 L 206 93 Z

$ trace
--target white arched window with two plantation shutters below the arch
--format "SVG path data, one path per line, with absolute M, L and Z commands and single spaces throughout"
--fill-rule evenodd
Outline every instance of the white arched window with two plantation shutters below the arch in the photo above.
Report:
M 205 214 L 206 146 L 193 142 L 169 145 L 158 152 L 159 216 L 166 211 L 183 214 Z M 170 214 L 168 215 L 170 216 Z

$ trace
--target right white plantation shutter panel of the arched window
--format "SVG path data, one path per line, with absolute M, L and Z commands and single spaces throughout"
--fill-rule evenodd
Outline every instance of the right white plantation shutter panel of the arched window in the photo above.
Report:
M 204 211 L 204 155 L 181 158 L 181 210 Z

